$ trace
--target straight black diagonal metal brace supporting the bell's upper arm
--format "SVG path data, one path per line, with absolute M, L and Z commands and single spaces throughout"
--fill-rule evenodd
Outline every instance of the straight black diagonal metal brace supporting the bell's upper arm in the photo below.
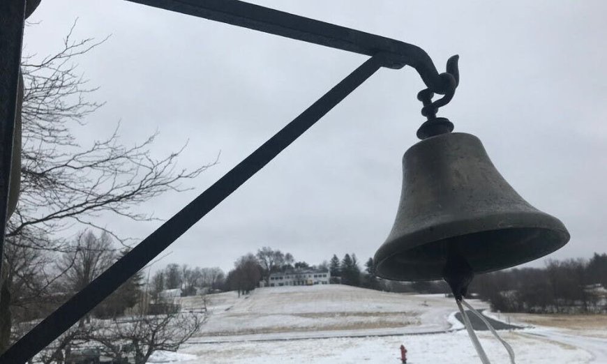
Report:
M 325 93 L 308 109 L 299 114 L 283 129 L 267 140 L 236 167 L 196 197 L 181 211 L 151 233 L 133 250 L 119 259 L 107 271 L 75 294 L 61 307 L 23 336 L 2 356 L 0 363 L 25 363 L 87 314 L 103 299 L 126 282 L 133 274 L 172 244 L 195 222 L 207 215 L 215 206 L 237 190 L 255 173 L 259 172 L 287 146 L 304 134 L 322 116 L 333 109 L 354 89 L 362 84 L 384 63 L 384 55 L 373 56 L 354 70 L 333 89 Z

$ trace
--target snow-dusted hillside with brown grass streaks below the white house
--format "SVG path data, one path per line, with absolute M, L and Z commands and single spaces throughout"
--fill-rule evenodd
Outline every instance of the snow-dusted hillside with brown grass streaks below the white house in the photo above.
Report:
M 343 285 L 267 287 L 250 296 L 227 292 L 210 295 L 209 300 L 211 314 L 200 336 L 220 341 L 224 336 L 273 333 L 300 338 L 297 333 L 312 331 L 442 332 L 451 327 L 447 317 L 456 307 L 440 294 L 394 294 Z M 184 307 L 194 305 L 190 300 Z

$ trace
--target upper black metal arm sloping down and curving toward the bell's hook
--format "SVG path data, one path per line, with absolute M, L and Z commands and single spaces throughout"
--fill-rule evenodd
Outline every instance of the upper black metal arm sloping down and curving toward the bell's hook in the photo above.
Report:
M 384 52 L 389 68 L 411 66 L 434 93 L 444 94 L 444 80 L 430 56 L 416 45 L 285 13 L 239 0 L 127 0 L 154 8 L 203 17 L 264 33 L 373 56 Z

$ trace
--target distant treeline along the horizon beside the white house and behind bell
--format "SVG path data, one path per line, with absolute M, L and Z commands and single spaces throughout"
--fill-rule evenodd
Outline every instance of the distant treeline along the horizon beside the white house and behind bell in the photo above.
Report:
M 396 282 L 377 278 L 373 259 L 364 268 L 355 254 L 342 259 L 310 265 L 295 261 L 290 253 L 263 247 L 257 254 L 239 257 L 227 275 L 219 268 L 189 268 L 170 264 L 151 281 L 151 293 L 181 288 L 182 294 L 195 294 L 197 288 L 248 292 L 269 282 L 273 272 L 298 268 L 320 268 L 331 272 L 331 283 L 391 292 L 450 294 L 447 283 Z M 530 313 L 607 312 L 607 254 L 595 253 L 591 259 L 549 260 L 544 268 L 513 268 L 477 275 L 468 297 L 488 301 L 493 310 Z

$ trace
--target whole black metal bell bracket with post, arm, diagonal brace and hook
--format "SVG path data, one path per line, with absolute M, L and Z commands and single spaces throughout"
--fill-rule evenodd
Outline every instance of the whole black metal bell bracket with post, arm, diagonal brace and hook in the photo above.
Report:
M 257 150 L 227 172 L 210 188 L 202 192 L 172 218 L 163 223 L 135 248 L 121 257 L 114 265 L 101 273 L 87 287 L 63 303 L 57 310 L 40 321 L 29 333 L 15 342 L 0 356 L 0 363 L 26 363 L 38 351 L 46 347 L 61 333 L 68 330 L 78 319 L 93 309 L 104 298 L 140 271 L 170 244 L 185 233 L 195 222 L 220 204 L 234 190 L 260 171 L 278 153 L 283 151 L 308 128 L 327 114 L 341 100 L 362 84 L 375 71 L 384 68 L 399 69 L 411 66 L 426 84 L 420 100 L 424 103 L 422 114 L 428 121 L 420 128 L 421 137 L 450 132 L 444 118 L 437 118 L 437 109 L 449 102 L 458 84 L 458 57 L 447 61 L 447 72 L 438 73 L 430 56 L 421 48 L 408 43 L 377 36 L 375 34 L 329 24 L 307 17 L 285 13 L 238 0 L 126 0 L 133 3 L 161 8 L 208 20 L 241 26 L 256 31 L 303 40 L 370 56 L 361 66 L 345 77 L 282 130 L 269 138 Z M 13 126 L 17 95 L 17 77 L 20 68 L 22 30 L 26 13 L 24 8 L 39 0 L 5 0 L 0 5 L 0 217 L 2 229 L 6 222 L 8 200 L 8 176 L 13 145 Z M 33 11 L 33 10 L 31 10 Z M 6 35 L 6 36 L 5 36 Z M 433 95 L 444 95 L 432 102 Z M 420 135 L 420 132 L 418 132 Z M 3 231 L 3 230 L 2 230 Z M 0 237 L 0 254 L 3 234 Z M 1 264 L 1 259 L 0 259 Z

